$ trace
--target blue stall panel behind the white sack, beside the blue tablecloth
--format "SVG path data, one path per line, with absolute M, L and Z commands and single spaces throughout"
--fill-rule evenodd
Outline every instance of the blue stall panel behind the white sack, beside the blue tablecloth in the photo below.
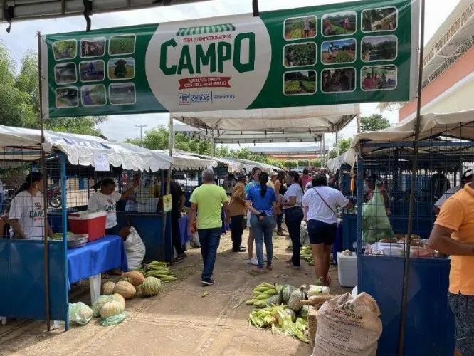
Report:
M 137 229 L 145 248 L 147 248 L 144 261 L 169 262 L 172 260 L 171 214 L 167 214 L 164 238 L 162 216 L 162 214 L 117 213 L 119 226 L 131 225 Z

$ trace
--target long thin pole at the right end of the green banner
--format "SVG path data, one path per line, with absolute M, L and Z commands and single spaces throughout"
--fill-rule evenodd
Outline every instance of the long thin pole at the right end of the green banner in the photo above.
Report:
M 425 41 L 425 0 L 421 1 L 421 29 L 420 29 L 420 44 L 419 44 L 419 67 L 418 67 L 418 98 L 416 101 L 416 121 L 414 130 L 414 153 L 413 165 L 411 167 L 411 187 L 410 187 L 410 201 L 409 201 L 409 216 L 408 226 L 406 231 L 406 246 L 405 246 L 405 265 L 404 265 L 404 285 L 401 294 L 401 316 L 400 316 L 400 330 L 399 330 L 399 356 L 404 355 L 405 342 L 405 328 L 406 328 L 406 309 L 408 303 L 409 292 L 409 271 L 410 271 L 410 249 L 411 249 L 411 231 L 413 228 L 413 212 L 414 212 L 414 198 L 416 189 L 416 171 L 418 170 L 418 140 L 420 136 L 420 116 L 421 116 L 421 94 L 423 93 L 423 55 L 424 55 L 424 41 Z

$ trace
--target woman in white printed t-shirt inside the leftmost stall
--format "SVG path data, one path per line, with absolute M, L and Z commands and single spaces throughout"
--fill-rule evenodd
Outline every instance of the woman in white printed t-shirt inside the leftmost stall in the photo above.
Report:
M 45 224 L 48 236 L 53 234 L 48 220 L 45 219 L 46 210 L 41 187 L 43 175 L 31 172 L 11 201 L 9 224 L 14 231 L 14 239 L 43 240 Z

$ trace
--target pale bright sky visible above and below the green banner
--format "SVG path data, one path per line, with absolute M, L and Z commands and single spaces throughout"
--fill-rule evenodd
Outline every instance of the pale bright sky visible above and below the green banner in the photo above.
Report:
M 314 6 L 315 4 L 340 3 L 346 0 L 259 0 L 260 11 L 286 9 L 289 4 L 292 7 Z M 426 26 L 425 43 L 436 32 L 446 17 L 459 3 L 459 0 L 426 0 Z M 187 19 L 199 19 L 212 16 L 228 16 L 234 14 L 246 14 L 252 11 L 251 0 L 211 0 L 176 6 L 159 6 L 153 9 L 120 11 L 111 14 L 99 14 L 92 16 L 92 28 L 110 28 L 117 26 L 132 26 L 144 23 L 159 23 L 167 21 L 182 21 Z M 11 57 L 18 63 L 27 51 L 37 51 L 37 31 L 42 34 L 61 33 L 70 31 L 84 31 L 85 20 L 83 16 L 74 16 L 63 19 L 48 19 L 36 21 L 21 21 L 13 23 L 11 33 L 6 33 L 7 25 L 0 25 L 0 41 L 4 41 L 6 47 L 11 51 Z M 376 110 L 378 103 L 361 104 L 362 116 L 379 113 Z M 398 122 L 398 112 L 386 111 L 383 115 L 389 119 L 392 125 Z M 159 125 L 168 125 L 168 114 L 149 115 L 118 115 L 110 116 L 109 120 L 100 128 L 110 140 L 122 141 L 127 137 L 139 137 L 139 127 L 146 125 L 144 132 Z M 356 132 L 354 120 L 340 133 L 341 137 L 351 137 Z M 327 135 L 326 142 L 333 142 L 334 135 Z M 291 144 L 286 144 L 291 145 Z M 304 145 L 304 144 L 293 144 Z M 310 144 L 309 144 L 310 145 Z M 231 146 L 235 147 L 235 146 Z

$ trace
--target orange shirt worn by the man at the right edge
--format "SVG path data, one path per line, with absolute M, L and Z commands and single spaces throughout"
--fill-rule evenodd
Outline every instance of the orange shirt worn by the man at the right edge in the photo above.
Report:
M 444 202 L 435 224 L 453 229 L 455 241 L 474 244 L 474 189 L 470 184 Z M 449 291 L 474 295 L 474 256 L 451 256 Z

